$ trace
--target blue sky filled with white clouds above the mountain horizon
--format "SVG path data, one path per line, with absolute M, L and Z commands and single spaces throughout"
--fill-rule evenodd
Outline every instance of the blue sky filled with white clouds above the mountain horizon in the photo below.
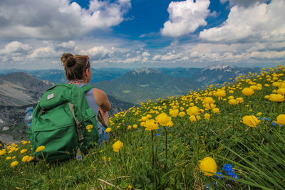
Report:
M 272 67 L 285 60 L 285 0 L 3 0 L 0 69 Z

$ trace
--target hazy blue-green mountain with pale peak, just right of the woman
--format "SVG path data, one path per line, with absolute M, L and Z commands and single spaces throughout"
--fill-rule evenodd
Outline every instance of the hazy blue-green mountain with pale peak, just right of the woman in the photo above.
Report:
M 150 99 L 182 95 L 191 89 L 198 88 L 192 80 L 175 78 L 155 68 L 130 70 L 118 78 L 91 83 L 90 85 L 102 89 L 108 95 L 119 100 L 137 105 Z

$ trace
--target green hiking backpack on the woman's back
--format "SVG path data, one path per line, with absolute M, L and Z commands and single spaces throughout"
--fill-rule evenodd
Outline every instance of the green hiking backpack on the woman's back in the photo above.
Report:
M 36 159 L 48 162 L 75 156 L 81 159 L 81 152 L 98 142 L 96 115 L 85 96 L 85 92 L 92 88 L 90 85 L 79 88 L 60 83 L 46 90 L 33 112 L 28 131 Z M 45 149 L 36 152 L 40 146 Z

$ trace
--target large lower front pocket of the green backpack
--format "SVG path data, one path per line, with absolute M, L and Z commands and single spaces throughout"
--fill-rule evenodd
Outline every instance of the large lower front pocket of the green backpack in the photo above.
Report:
M 76 154 L 78 133 L 68 103 L 48 110 L 33 123 L 33 153 L 47 161 L 70 159 Z M 43 152 L 36 147 L 45 146 Z

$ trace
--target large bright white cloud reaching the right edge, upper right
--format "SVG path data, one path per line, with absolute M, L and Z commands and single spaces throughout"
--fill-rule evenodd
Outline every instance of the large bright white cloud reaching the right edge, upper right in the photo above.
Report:
M 270 4 L 257 3 L 248 8 L 233 6 L 221 27 L 205 29 L 199 38 L 217 43 L 284 41 L 284 9 L 284 0 L 272 0 Z

